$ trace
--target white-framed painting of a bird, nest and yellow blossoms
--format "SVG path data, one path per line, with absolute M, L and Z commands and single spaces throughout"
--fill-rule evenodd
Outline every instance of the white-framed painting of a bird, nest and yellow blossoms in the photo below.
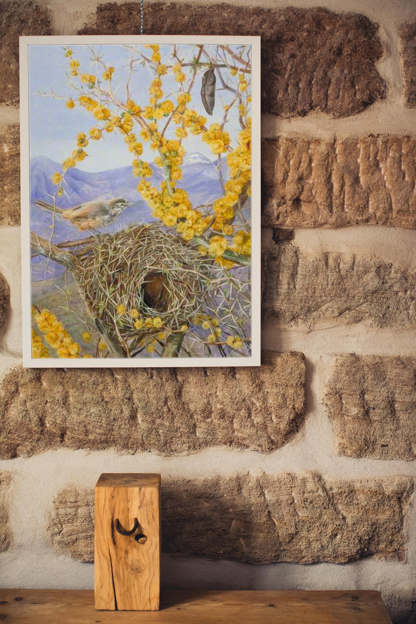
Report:
M 24 366 L 259 365 L 259 37 L 21 37 Z

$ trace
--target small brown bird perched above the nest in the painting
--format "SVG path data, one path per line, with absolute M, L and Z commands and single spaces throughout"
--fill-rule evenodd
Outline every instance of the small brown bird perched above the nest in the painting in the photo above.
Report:
M 42 210 L 54 212 L 63 219 L 67 219 L 79 230 L 96 230 L 97 228 L 105 228 L 117 221 L 121 213 L 132 204 L 121 197 L 117 197 L 108 201 L 81 203 L 73 208 L 57 208 L 51 203 L 41 200 L 35 202 L 35 205 Z

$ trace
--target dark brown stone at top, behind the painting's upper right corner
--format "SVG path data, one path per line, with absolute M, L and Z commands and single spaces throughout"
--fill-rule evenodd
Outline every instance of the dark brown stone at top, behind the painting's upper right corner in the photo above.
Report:
M 367 17 L 322 8 L 147 4 L 146 34 L 261 35 L 263 109 L 284 117 L 320 110 L 344 117 L 385 97 L 383 54 Z M 109 2 L 79 34 L 138 34 L 140 4 Z

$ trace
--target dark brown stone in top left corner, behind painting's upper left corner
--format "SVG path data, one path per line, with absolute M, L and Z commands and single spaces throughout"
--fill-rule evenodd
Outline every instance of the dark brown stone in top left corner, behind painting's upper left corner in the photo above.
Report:
M 19 36 L 50 34 L 45 7 L 18 0 L 0 3 L 0 104 L 19 102 Z

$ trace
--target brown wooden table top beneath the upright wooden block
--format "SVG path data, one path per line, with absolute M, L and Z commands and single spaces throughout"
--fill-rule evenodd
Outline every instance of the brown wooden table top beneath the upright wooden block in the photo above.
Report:
M 379 592 L 162 592 L 153 612 L 95 611 L 89 590 L 0 590 L 0 621 L 24 624 L 391 624 Z

